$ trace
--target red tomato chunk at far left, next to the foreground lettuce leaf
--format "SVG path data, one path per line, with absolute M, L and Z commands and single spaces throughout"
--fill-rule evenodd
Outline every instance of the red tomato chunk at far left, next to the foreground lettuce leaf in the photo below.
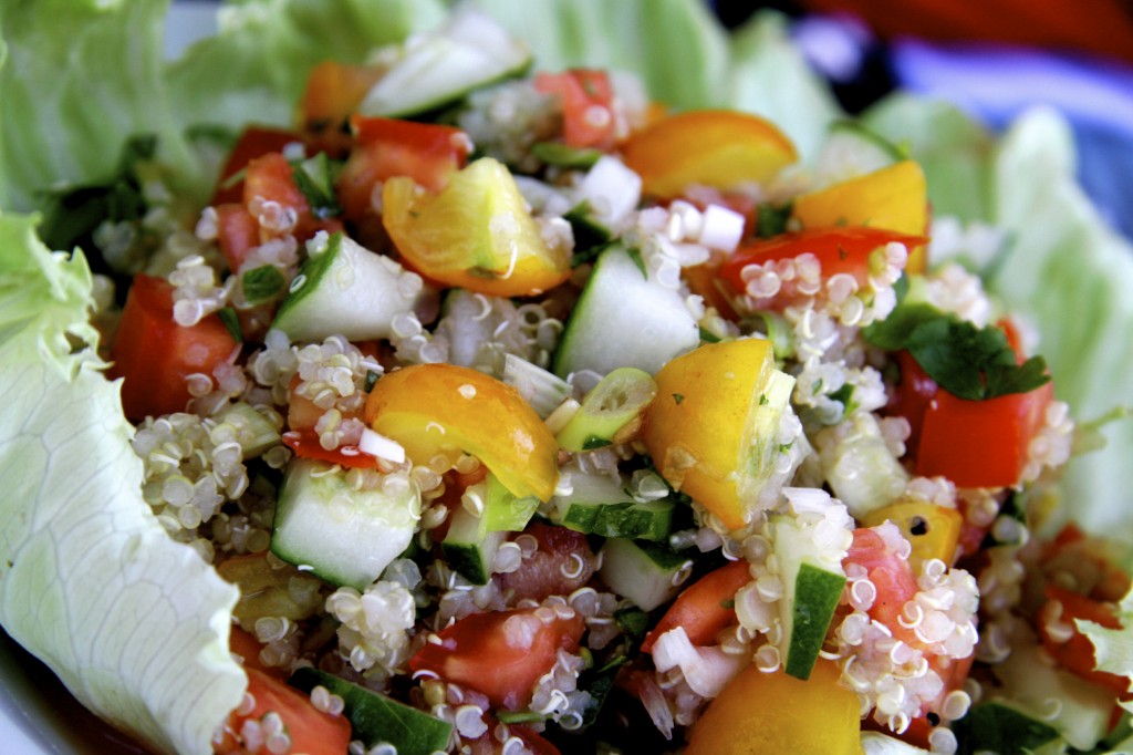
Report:
M 182 328 L 173 320 L 173 286 L 152 275 L 134 278 L 114 334 L 108 371 L 122 378 L 122 410 L 134 422 L 184 412 L 189 401 L 185 379 L 212 378 L 216 365 L 239 349 L 220 317 L 211 314 Z

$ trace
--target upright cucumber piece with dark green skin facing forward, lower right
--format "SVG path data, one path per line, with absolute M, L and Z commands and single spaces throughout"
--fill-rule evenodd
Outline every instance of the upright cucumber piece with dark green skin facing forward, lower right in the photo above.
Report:
M 792 516 L 773 515 L 768 528 L 783 580 L 783 667 L 787 675 L 808 679 L 846 584 L 841 563 L 845 552 L 832 553 L 815 541 L 811 527 Z

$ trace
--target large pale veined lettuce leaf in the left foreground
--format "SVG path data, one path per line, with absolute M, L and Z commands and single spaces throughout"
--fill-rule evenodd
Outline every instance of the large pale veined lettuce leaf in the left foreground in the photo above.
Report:
M 0 622 L 107 721 L 210 753 L 247 685 L 228 653 L 237 591 L 142 498 L 83 255 L 0 214 Z

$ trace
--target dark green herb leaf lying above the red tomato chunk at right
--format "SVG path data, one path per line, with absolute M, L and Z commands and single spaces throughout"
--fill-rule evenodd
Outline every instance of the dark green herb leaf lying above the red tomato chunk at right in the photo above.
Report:
M 1042 357 L 1017 364 L 1007 337 L 925 304 L 902 304 L 864 330 L 874 346 L 908 350 L 937 385 L 970 401 L 1026 393 L 1050 380 Z

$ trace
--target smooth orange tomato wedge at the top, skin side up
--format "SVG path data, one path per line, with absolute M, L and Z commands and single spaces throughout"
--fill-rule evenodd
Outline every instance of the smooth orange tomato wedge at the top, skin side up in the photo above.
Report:
M 690 186 L 729 189 L 765 184 L 799 159 L 770 121 L 732 110 L 693 110 L 662 118 L 623 145 L 625 164 L 645 194 L 670 198 Z

